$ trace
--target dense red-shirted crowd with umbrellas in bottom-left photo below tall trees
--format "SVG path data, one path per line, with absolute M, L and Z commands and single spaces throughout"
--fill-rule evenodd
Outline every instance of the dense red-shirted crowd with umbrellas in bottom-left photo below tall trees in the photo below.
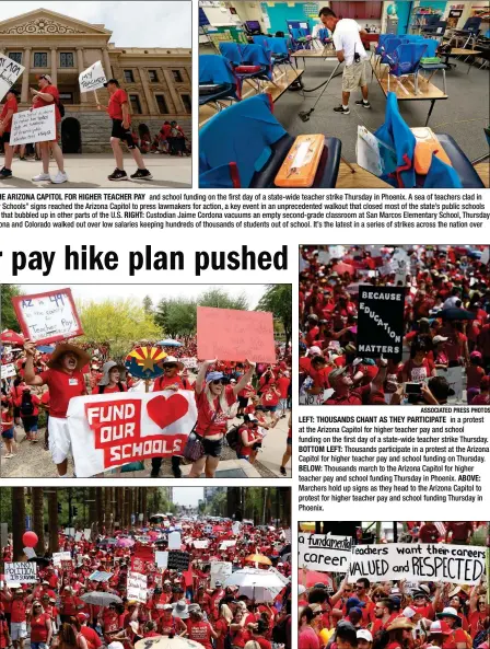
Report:
M 46 555 L 35 559 L 36 583 L 9 587 L 3 581 L 0 647 L 133 649 L 138 640 L 166 636 L 205 649 L 271 649 L 272 641 L 289 649 L 290 584 L 273 596 L 254 599 L 248 587 L 226 586 L 224 579 L 211 583 L 211 565 L 218 560 L 231 563 L 233 572 L 273 566 L 289 578 L 289 555 L 280 554 L 283 530 L 230 519 L 160 518 L 159 524 L 147 521 L 110 534 L 103 529 L 93 538 L 60 531 L 59 551 L 70 556 L 63 568 Z M 167 549 L 174 531 L 180 533 L 180 552 L 190 555 L 186 569 L 156 565 L 155 551 Z M 11 545 L 2 548 L 3 561 L 12 560 L 12 552 Z M 129 571 L 147 576 L 147 590 L 138 599 L 128 593 Z

